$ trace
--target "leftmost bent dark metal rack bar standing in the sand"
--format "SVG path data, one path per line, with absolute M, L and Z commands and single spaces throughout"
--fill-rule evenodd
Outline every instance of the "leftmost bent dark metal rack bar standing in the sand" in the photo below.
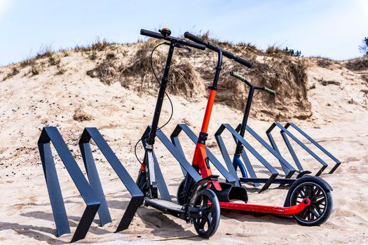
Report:
M 79 190 L 84 202 L 86 202 L 87 207 L 83 211 L 83 215 L 79 221 L 79 224 L 77 225 L 76 232 L 74 232 L 74 235 L 71 239 L 71 241 L 77 241 L 86 237 L 90 225 L 93 222 L 93 218 L 95 218 L 97 210 L 100 207 L 100 202 L 98 201 L 98 198 L 95 197 L 93 189 L 90 187 L 88 181 L 81 172 L 81 169 L 78 167 L 76 160 L 74 160 L 73 155 L 71 155 L 67 144 L 65 144 L 57 128 L 43 127 L 38 141 L 38 146 L 41 155 L 43 172 L 46 174 L 46 186 L 48 188 L 50 203 L 53 209 L 57 234 L 62 235 L 65 234 L 65 232 L 68 232 L 67 228 L 69 228 L 69 224 L 67 224 L 67 216 L 64 208 L 64 201 L 61 195 L 60 184 L 58 181 L 56 181 L 56 169 L 55 166 L 50 167 L 50 165 L 54 165 L 50 142 L 53 143 L 57 154 L 60 156 L 62 163 L 71 176 L 71 180 Z M 50 180 L 50 178 L 55 179 Z M 60 225 L 62 226 L 60 227 Z

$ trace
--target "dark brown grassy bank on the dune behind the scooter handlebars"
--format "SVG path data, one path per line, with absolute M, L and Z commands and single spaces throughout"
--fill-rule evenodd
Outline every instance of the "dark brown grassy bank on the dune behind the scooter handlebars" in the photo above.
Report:
M 277 91 L 276 97 L 259 92 L 254 96 L 252 116 L 258 118 L 305 119 L 312 115 L 311 104 L 307 98 L 307 74 L 304 59 L 289 55 L 264 55 L 254 46 L 213 40 L 205 34 L 202 38 L 222 46 L 237 55 L 254 62 L 252 69 L 224 58 L 222 76 L 219 79 L 219 90 L 216 101 L 234 109 L 243 111 L 247 99 L 247 87 L 234 78 L 230 71 L 243 73 L 253 83 L 265 85 Z M 149 39 L 135 44 L 137 51 L 130 55 L 128 61 L 104 59 L 88 75 L 100 78 L 102 83 L 111 84 L 119 81 L 123 87 L 137 92 L 156 94 L 158 83 L 151 71 L 151 51 L 159 42 Z M 161 46 L 154 53 L 153 66 L 158 78 L 161 78 L 167 55 L 166 46 Z M 100 57 L 101 55 L 98 55 Z M 261 59 L 259 59 L 261 57 Z M 205 86 L 212 85 L 214 66 L 217 55 L 192 49 L 191 53 L 177 49 L 172 59 L 168 92 L 191 99 L 207 96 Z

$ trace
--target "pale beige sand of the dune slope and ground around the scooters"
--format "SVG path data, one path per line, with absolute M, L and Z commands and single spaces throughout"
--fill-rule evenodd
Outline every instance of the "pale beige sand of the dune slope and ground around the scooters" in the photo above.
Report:
M 66 202 L 71 235 L 56 237 L 55 223 L 46 190 L 46 183 L 37 149 L 37 139 L 45 125 L 57 126 L 77 162 L 83 169 L 77 145 L 83 127 L 100 129 L 118 158 L 133 176 L 137 176 L 139 163 L 135 160 L 133 146 L 151 123 L 155 98 L 135 94 L 118 83 L 104 85 L 97 78 L 78 72 L 81 62 L 69 56 L 62 59 L 67 73 L 55 76 L 51 68 L 39 76 L 20 74 L 0 83 L 0 244 L 64 244 L 70 241 L 84 208 L 78 190 L 56 158 L 57 171 Z M 93 64 L 83 63 L 83 69 Z M 7 68 L 0 68 L 3 75 Z M 25 68 L 27 69 L 27 68 Z M 334 188 L 334 213 L 318 227 L 302 227 L 291 218 L 261 214 L 243 214 L 222 211 L 219 229 L 208 240 L 196 237 L 192 225 L 151 208 L 139 208 L 128 230 L 113 233 L 130 198 L 127 190 L 114 175 L 99 151 L 95 152 L 97 168 L 111 209 L 113 223 L 101 228 L 98 219 L 90 228 L 86 239 L 79 243 L 103 244 L 367 244 L 368 204 L 368 131 L 367 83 L 360 74 L 346 69 L 329 70 L 311 67 L 308 71 L 311 90 L 308 97 L 313 106 L 313 118 L 294 121 L 314 137 L 336 158 L 343 162 L 335 174 L 322 177 Z M 1 75 L 0 75 L 1 76 Z M 323 80 L 335 80 L 339 85 L 322 85 Z M 313 86 L 314 85 L 314 86 Z M 163 130 L 170 134 L 177 123 L 189 123 L 194 132 L 200 129 L 205 99 L 188 102 L 172 97 L 175 112 L 170 125 Z M 81 109 L 93 120 L 81 123 L 73 119 L 74 111 Z M 165 101 L 161 124 L 170 115 Z M 241 111 L 234 111 L 216 104 L 210 125 L 210 139 L 221 123 L 236 126 L 242 118 Z M 250 120 L 250 125 L 266 139 L 264 132 L 271 122 Z M 279 138 L 278 138 L 279 139 Z M 231 139 L 226 141 L 231 148 Z M 254 144 L 254 141 L 252 141 Z M 183 138 L 188 158 L 193 144 Z M 170 193 L 182 179 L 179 165 L 170 153 L 157 144 L 156 154 Z M 257 146 L 254 144 L 254 146 Z M 310 145 L 308 145 L 310 146 Z M 280 169 L 278 162 L 264 148 L 257 149 Z M 220 160 L 217 146 L 211 150 Z M 285 148 L 281 149 L 285 151 Z M 142 155 L 139 148 L 139 155 Z M 303 165 L 316 171 L 319 163 L 299 149 Z M 56 154 L 55 154 L 56 155 Z M 287 158 L 291 160 L 291 158 Z M 328 160 L 326 158 L 326 160 Z M 253 159 L 259 169 L 259 162 Z M 332 162 L 329 160 L 329 163 Z M 273 186 L 264 193 L 250 190 L 250 202 L 282 205 L 287 190 Z M 170 239 L 181 237 L 182 239 Z

